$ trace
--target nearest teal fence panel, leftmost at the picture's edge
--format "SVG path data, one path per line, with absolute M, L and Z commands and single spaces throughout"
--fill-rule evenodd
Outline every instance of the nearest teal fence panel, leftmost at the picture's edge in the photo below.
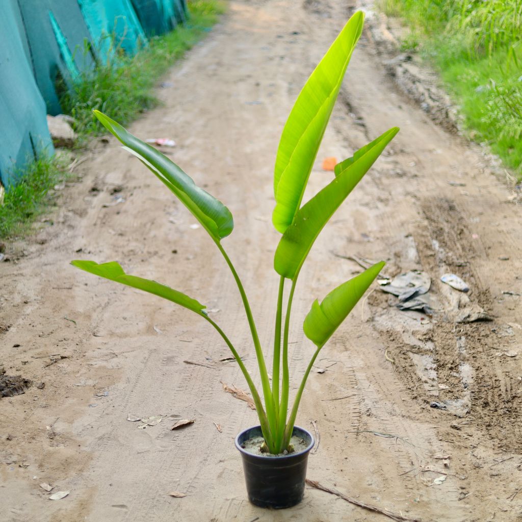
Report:
M 54 152 L 16 0 L 0 16 L 0 180 L 9 188 L 28 161 Z

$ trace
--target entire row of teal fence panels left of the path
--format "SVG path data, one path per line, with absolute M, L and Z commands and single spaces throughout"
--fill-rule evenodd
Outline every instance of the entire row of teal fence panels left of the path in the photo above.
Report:
M 0 181 L 53 153 L 46 114 L 81 72 L 187 18 L 186 0 L 0 0 Z M 16 168 L 15 168 L 16 165 Z

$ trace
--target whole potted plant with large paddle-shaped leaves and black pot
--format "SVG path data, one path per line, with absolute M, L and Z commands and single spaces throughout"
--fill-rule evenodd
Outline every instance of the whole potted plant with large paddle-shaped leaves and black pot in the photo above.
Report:
M 303 375 L 293 406 L 289 410 L 289 325 L 294 290 L 301 267 L 319 232 L 399 130 L 397 127 L 389 129 L 356 151 L 352 157 L 338 163 L 335 166 L 334 179 L 307 203 L 301 205 L 342 78 L 361 35 L 363 20 L 364 15 L 361 12 L 355 13 L 339 33 L 307 80 L 282 132 L 275 165 L 276 206 L 272 215 L 272 222 L 281 233 L 281 239 L 274 258 L 274 268 L 279 275 L 280 283 L 271 384 L 250 304 L 238 272 L 222 244 L 234 226 L 229 209 L 195 185 L 191 177 L 158 150 L 128 133 L 108 116 L 94 111 L 100 122 L 121 141 L 123 148 L 138 157 L 192 212 L 223 255 L 243 301 L 252 334 L 262 393 L 254 385 L 230 339 L 205 312 L 204 304 L 156 281 L 128 275 L 115 262 L 98 264 L 93 261 L 76 260 L 72 264 L 91 274 L 156 294 L 184 306 L 218 331 L 239 364 L 259 418 L 259 426 L 245 430 L 236 438 L 236 446 L 243 457 L 248 496 L 256 505 L 289 507 L 301 501 L 306 461 L 313 446 L 313 437 L 306 430 L 294 426 L 294 422 L 306 379 L 326 341 L 384 266 L 384 262 L 375 264 L 357 277 L 340 284 L 328 293 L 322 302 L 313 302 L 304 319 L 303 329 L 306 337 L 315 344 L 315 351 Z M 283 320 L 284 286 L 287 282 L 290 284 L 290 291 Z

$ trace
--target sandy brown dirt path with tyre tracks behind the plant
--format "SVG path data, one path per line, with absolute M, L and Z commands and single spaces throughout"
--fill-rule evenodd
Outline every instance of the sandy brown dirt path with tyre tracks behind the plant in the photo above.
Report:
M 265 346 L 278 283 L 270 276 L 275 151 L 300 87 L 352 11 L 337 4 L 231 2 L 223 23 L 172 70 L 165 105 L 132 127 L 143 138 L 173 137 L 173 159 L 231 209 L 236 229 L 225 245 Z M 478 149 L 397 90 L 382 60 L 366 32 L 311 192 L 330 179 L 322 158 L 347 157 L 393 125 L 401 132 L 317 241 L 294 314 L 302 318 L 313 298 L 360 270 L 341 257 L 353 254 L 388 259 L 392 276 L 427 272 L 435 314 L 401 312 L 378 288 L 358 305 L 302 402 L 298 423 L 311 429 L 314 420 L 321 433 L 308 476 L 424 521 L 519 520 L 520 207 Z M 114 140 L 81 168 L 53 226 L 14 245 L 0 265 L 2 363 L 35 384 L 0 399 L 0 520 L 386 520 L 314 489 L 284 512 L 246 501 L 233 438 L 256 417 L 222 390 L 220 381 L 245 386 L 233 363 L 218 361 L 228 356 L 218 336 L 188 311 L 67 263 L 119 260 L 193 295 L 254 369 L 233 280 L 205 232 Z M 117 195 L 125 202 L 115 204 Z M 470 292 L 441 283 L 445 272 Z M 456 323 L 478 307 L 494 320 Z M 312 352 L 299 321 L 291 347 L 299 376 Z M 140 430 L 129 413 L 173 417 Z M 173 432 L 176 416 L 196 422 Z M 445 480 L 434 485 L 437 477 Z M 48 501 L 41 482 L 70 494 Z M 187 496 L 173 499 L 173 490 Z

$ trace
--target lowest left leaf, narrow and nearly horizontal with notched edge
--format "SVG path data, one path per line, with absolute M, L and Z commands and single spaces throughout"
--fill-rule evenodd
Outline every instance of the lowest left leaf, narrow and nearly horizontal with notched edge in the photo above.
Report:
M 189 298 L 188 295 L 178 292 L 177 290 L 173 290 L 172 288 L 156 281 L 144 279 L 143 277 L 129 276 L 125 274 L 125 271 L 120 266 L 120 264 L 116 263 L 115 261 L 111 263 L 102 263 L 99 265 L 94 261 L 76 260 L 72 261 L 70 264 L 80 268 L 81 270 L 85 270 L 90 274 L 94 274 L 95 276 L 110 279 L 111 281 L 116 281 L 117 283 L 126 284 L 128 287 L 138 288 L 139 290 L 144 290 L 145 292 L 158 295 L 163 299 L 180 304 L 181 306 L 184 306 L 185 308 L 188 308 L 188 310 L 192 310 L 199 315 L 207 315 L 205 312 L 206 306 L 204 304 L 198 303 L 195 299 Z

